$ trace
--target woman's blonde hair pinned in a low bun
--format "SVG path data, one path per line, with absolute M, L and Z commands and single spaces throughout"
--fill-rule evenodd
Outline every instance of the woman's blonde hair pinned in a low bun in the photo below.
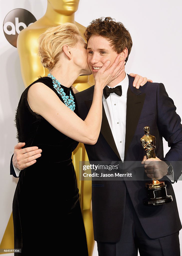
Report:
M 63 51 L 63 46 L 66 44 L 74 47 L 78 42 L 80 31 L 78 27 L 72 23 L 64 23 L 56 27 L 48 28 L 40 35 L 39 52 L 41 63 L 44 68 L 51 70 L 58 61 L 59 54 Z

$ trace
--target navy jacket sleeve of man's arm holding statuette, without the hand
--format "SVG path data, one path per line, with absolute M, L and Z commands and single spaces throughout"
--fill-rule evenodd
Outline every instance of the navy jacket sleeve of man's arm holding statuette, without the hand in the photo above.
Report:
M 157 113 L 157 126 L 170 147 L 164 159 L 172 162 L 174 180 L 177 182 L 182 170 L 181 118 L 176 113 L 176 106 L 162 83 L 157 88 Z

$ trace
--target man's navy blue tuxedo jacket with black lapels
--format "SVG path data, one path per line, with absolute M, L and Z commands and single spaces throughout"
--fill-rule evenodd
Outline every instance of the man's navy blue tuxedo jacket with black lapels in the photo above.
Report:
M 156 137 L 156 156 L 163 155 L 163 137 L 170 150 L 165 159 L 182 161 L 182 125 L 172 99 L 162 83 L 146 83 L 140 89 L 133 87 L 134 78 L 129 77 L 126 110 L 126 138 L 124 161 L 142 161 L 146 154 L 140 138 L 144 126 L 149 126 Z M 84 120 L 92 104 L 94 86 L 76 94 L 80 117 Z M 122 109 L 120 110 L 122 111 Z M 89 161 L 121 161 L 103 107 L 101 132 L 95 145 L 86 145 Z M 174 163 L 174 162 L 173 162 Z M 181 175 L 181 168 L 173 164 L 175 180 Z M 163 180 L 165 177 L 163 178 Z M 142 199 L 146 197 L 146 181 L 92 181 L 92 211 L 94 239 L 99 242 L 117 242 L 120 239 L 125 215 L 126 187 L 141 225 L 150 238 L 173 234 L 181 229 L 176 199 L 172 184 L 165 181 L 167 194 L 173 202 L 162 206 L 147 207 Z M 157 227 L 157 232 L 156 232 Z

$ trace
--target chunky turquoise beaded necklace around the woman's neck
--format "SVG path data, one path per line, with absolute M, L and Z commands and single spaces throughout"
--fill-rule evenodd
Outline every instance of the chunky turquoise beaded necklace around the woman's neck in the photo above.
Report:
M 48 77 L 52 79 L 53 82 L 53 87 L 56 89 L 56 91 L 60 94 L 61 98 L 63 99 L 65 105 L 71 109 L 72 111 L 75 110 L 75 102 L 74 102 L 74 97 L 71 94 L 71 90 L 69 91 L 69 96 L 66 95 L 64 92 L 63 88 L 61 88 L 61 84 L 59 83 L 58 80 L 56 80 L 55 77 L 53 77 L 52 74 L 48 74 Z

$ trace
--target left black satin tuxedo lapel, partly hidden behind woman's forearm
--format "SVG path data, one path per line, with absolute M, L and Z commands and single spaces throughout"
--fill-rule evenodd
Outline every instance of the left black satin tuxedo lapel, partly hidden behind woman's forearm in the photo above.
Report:
M 92 105 L 92 100 L 90 101 L 85 101 L 85 104 L 87 105 L 88 109 L 90 109 L 91 105 Z M 121 161 L 119 152 L 117 150 L 114 138 L 113 138 L 113 134 L 111 132 L 111 128 L 110 125 L 108 123 L 107 120 L 107 116 L 104 110 L 104 105 L 102 103 L 102 124 L 101 124 L 101 133 L 104 136 L 105 140 L 107 141 L 107 143 L 110 145 L 110 147 L 112 148 L 112 150 L 114 151 L 114 153 L 118 156 L 119 160 Z

